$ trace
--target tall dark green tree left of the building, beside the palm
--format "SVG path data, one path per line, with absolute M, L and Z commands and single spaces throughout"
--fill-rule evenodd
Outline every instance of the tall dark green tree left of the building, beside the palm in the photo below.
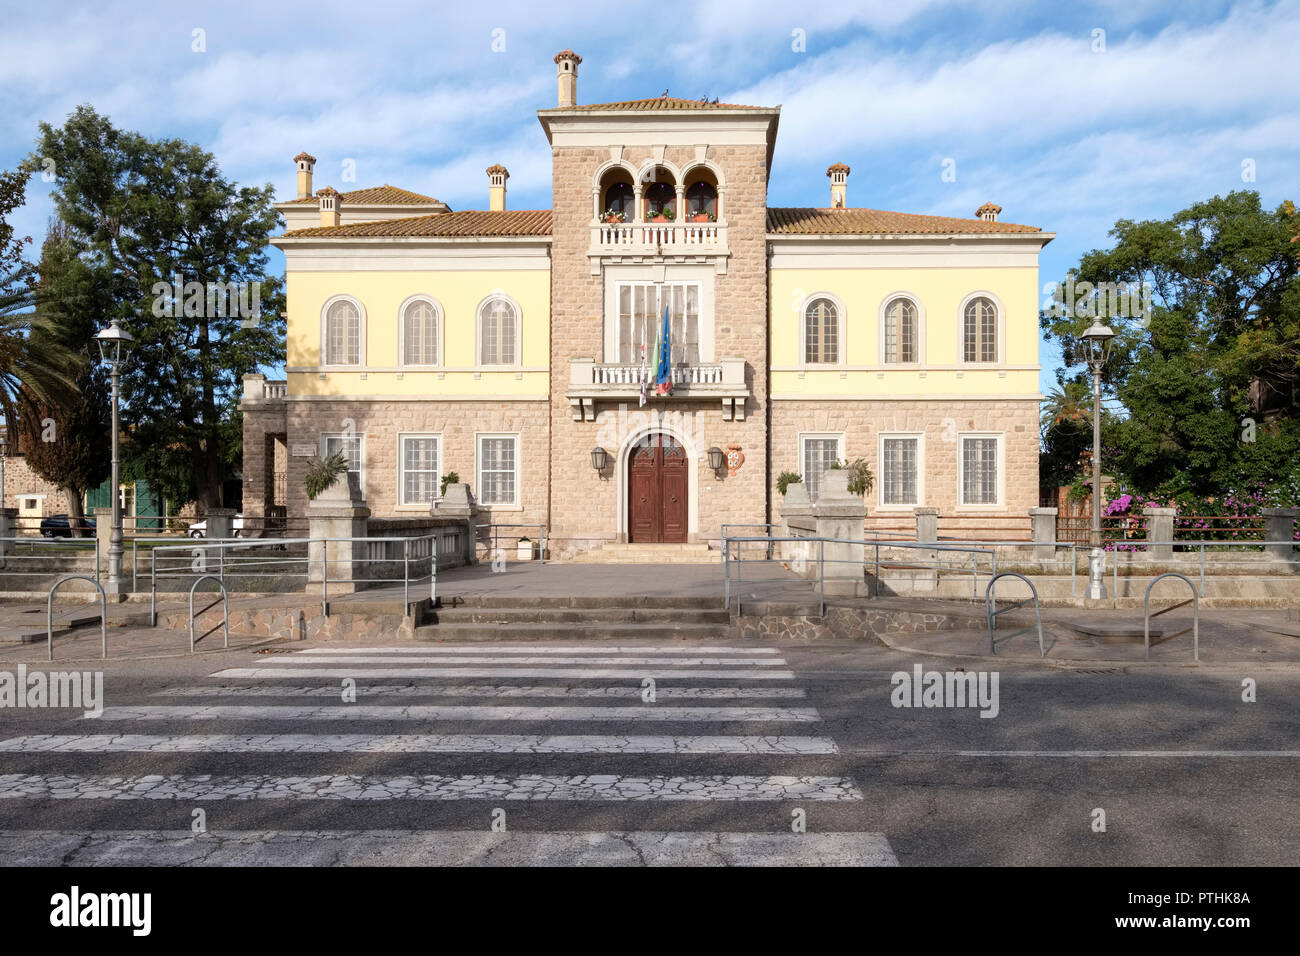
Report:
M 266 272 L 272 186 L 237 186 L 198 146 L 118 130 L 86 105 L 61 127 L 42 124 L 36 146 L 55 163 L 56 213 L 107 290 L 96 321 L 116 317 L 135 338 L 122 371 L 124 475 L 176 502 L 221 505 L 239 457 L 240 380 L 283 355 L 282 284 Z M 176 281 L 181 295 L 169 295 Z M 237 286 L 256 319 L 211 293 Z

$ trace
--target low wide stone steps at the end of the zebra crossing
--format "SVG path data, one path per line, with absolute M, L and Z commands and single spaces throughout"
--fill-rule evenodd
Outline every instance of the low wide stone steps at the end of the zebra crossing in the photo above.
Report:
M 732 636 L 731 615 L 711 597 L 451 598 L 434 623 L 415 628 L 422 641 L 719 640 Z

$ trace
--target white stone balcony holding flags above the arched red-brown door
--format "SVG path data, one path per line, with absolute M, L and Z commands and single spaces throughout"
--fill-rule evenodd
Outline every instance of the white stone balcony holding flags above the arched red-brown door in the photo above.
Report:
M 689 399 L 718 401 L 724 421 L 745 419 L 749 385 L 745 382 L 744 359 L 679 363 L 672 367 L 672 392 L 655 395 L 654 372 L 630 363 L 602 363 L 595 359 L 569 359 L 569 386 L 566 395 L 575 421 L 595 421 L 597 403 L 636 403 L 641 384 L 646 384 L 650 403 Z

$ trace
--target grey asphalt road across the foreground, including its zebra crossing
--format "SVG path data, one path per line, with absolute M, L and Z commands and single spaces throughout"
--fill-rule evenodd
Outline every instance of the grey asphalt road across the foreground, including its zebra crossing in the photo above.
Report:
M 98 718 L 0 709 L 0 864 L 1300 858 L 1296 667 L 722 641 L 276 652 L 110 662 Z M 984 671 L 985 692 L 996 669 L 996 717 L 894 706 L 916 665 Z

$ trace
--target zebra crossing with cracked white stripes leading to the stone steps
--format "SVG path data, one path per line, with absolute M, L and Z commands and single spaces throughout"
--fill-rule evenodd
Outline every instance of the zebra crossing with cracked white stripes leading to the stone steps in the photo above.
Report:
M 775 648 L 318 648 L 0 754 L 6 864 L 897 865 Z

